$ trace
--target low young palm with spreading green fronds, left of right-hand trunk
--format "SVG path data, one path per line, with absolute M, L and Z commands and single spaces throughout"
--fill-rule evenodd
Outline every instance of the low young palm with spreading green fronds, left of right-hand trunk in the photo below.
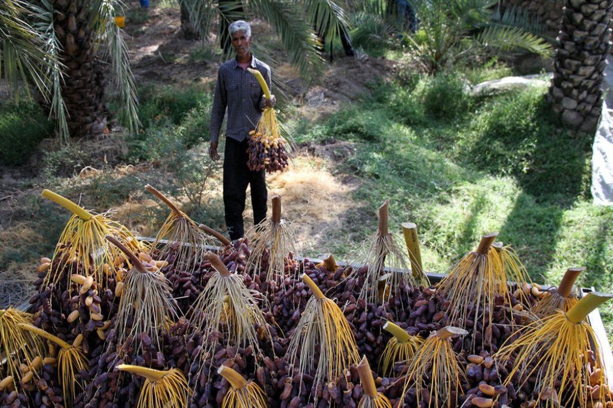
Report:
M 494 19 L 493 0 L 414 0 L 417 32 L 408 35 L 409 47 L 428 73 L 436 73 L 460 59 L 483 51 L 523 49 L 549 56 L 551 46 L 509 18 Z

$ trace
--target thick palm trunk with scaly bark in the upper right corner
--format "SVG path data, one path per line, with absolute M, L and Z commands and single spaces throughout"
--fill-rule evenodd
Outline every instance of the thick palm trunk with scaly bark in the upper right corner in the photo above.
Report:
M 600 119 L 612 9 L 613 0 L 566 0 L 549 97 L 570 128 L 593 132 Z

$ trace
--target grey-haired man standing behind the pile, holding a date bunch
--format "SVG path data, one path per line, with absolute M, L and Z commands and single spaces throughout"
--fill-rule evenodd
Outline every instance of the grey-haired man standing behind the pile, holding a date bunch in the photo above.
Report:
M 212 160 L 219 160 L 217 152 L 219 131 L 227 108 L 223 196 L 230 239 L 236 240 L 245 233 L 243 211 L 248 185 L 251 185 L 254 223 L 257 224 L 266 217 L 268 191 L 265 172 L 251 171 L 247 168 L 247 143 L 249 131 L 256 127 L 262 110 L 275 105 L 275 97 L 271 95 L 270 100 L 267 100 L 256 77 L 247 70 L 247 68 L 259 70 L 270 88 L 270 67 L 249 51 L 251 46 L 249 24 L 242 20 L 234 21 L 230 24 L 229 32 L 236 57 L 219 67 L 211 111 L 211 140 L 208 154 Z

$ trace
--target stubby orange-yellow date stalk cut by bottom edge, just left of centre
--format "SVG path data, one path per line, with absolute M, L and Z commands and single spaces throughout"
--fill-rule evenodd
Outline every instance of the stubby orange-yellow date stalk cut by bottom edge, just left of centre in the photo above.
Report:
M 221 366 L 217 370 L 229 383 L 228 390 L 221 408 L 266 408 L 264 391 L 255 382 L 245 380 L 234 369 Z

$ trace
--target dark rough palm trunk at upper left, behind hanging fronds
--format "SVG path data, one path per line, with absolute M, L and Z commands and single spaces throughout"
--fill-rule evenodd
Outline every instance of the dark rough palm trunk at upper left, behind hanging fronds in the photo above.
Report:
M 99 135 L 107 126 L 106 64 L 93 46 L 95 33 L 87 24 L 88 2 L 55 0 L 53 7 L 55 32 L 63 47 L 61 61 L 66 65 L 62 94 L 70 136 Z

